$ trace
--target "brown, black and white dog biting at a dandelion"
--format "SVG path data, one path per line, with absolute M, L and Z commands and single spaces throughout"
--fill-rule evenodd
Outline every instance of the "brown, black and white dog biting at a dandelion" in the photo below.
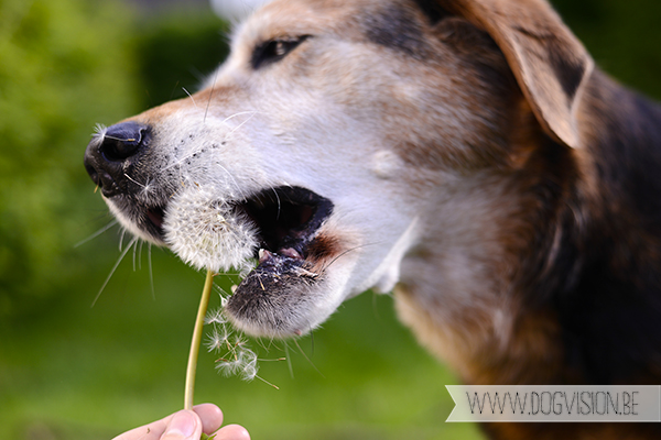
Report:
M 194 264 L 169 220 L 195 215 L 185 195 L 252 231 L 236 248 L 259 264 L 226 306 L 250 334 L 393 290 L 467 384 L 659 384 L 660 127 L 544 0 L 275 0 L 201 91 L 101 130 L 85 166 L 127 230 Z M 217 268 L 246 257 L 221 251 Z

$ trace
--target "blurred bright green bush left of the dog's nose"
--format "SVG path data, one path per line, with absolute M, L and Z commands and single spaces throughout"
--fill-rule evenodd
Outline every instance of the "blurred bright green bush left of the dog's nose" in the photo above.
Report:
M 91 199 L 80 144 L 95 119 L 136 106 L 119 11 L 84 0 L 0 2 L 0 319 L 77 276 L 73 243 Z

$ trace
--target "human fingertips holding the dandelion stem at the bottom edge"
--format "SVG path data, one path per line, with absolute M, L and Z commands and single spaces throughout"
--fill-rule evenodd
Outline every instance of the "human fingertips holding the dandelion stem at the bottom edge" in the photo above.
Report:
M 124 432 L 112 440 L 199 440 L 202 433 L 216 433 L 214 440 L 250 440 L 246 428 L 223 425 L 223 411 L 216 405 L 203 404 L 183 409 L 161 420 Z

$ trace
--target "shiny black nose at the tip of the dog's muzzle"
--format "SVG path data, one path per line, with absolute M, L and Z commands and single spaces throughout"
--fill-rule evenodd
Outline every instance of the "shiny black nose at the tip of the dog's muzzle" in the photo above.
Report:
M 149 125 L 137 122 L 118 123 L 95 135 L 85 151 L 85 169 L 104 196 L 130 193 L 127 169 L 149 139 Z

